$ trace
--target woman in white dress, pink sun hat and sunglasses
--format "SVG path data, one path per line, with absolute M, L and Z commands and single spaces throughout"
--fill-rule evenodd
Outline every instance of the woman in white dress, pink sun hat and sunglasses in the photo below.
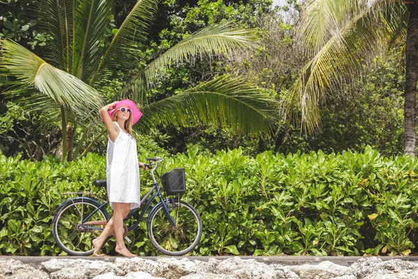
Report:
M 140 203 L 139 167 L 145 168 L 145 165 L 138 162 L 132 125 L 137 123 L 142 113 L 132 100 L 122 100 L 102 107 L 100 115 L 109 133 L 106 156 L 107 195 L 114 214 L 102 234 L 93 240 L 93 256 L 104 256 L 100 254 L 100 249 L 107 236 L 114 232 L 116 252 L 125 257 L 135 257 L 123 242 L 123 218 L 130 209 L 139 207 Z

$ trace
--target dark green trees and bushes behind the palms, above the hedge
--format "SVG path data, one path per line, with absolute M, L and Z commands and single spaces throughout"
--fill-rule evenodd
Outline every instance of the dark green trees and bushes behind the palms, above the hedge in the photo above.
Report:
M 118 29 L 137 1 L 125 0 L 116 3 L 114 13 L 109 17 L 109 39 L 111 30 Z M 0 7 L 8 14 L 9 20 L 29 24 L 24 7 L 31 1 L 10 1 Z M 261 93 L 273 100 L 281 101 L 299 75 L 299 70 L 309 59 L 304 46 L 297 40 L 299 10 L 294 1 L 288 1 L 282 9 L 272 8 L 270 1 L 251 0 L 243 2 L 222 1 L 162 1 L 158 5 L 156 20 L 150 23 L 146 47 L 140 54 L 139 68 L 144 68 L 155 57 L 169 50 L 183 38 L 196 30 L 219 22 L 235 22 L 242 28 L 258 29 L 260 45 L 256 51 L 239 52 L 230 59 L 201 56 L 201 60 L 185 60 L 167 69 L 148 89 L 147 103 L 173 97 L 187 92 L 199 82 L 208 81 L 219 75 L 229 74 L 249 80 Z M 169 17 L 167 17 L 169 15 Z M 3 24 L 4 20 L 0 20 Z M 8 25 L 8 24 L 6 24 Z M 0 27 L 7 29 L 7 27 Z M 41 32 L 40 24 L 29 29 Z M 10 33 L 10 32 L 9 32 Z M 33 38 L 28 35 L 28 41 Z M 47 40 L 45 41 L 47 44 Z M 42 56 L 45 45 L 36 47 L 20 40 L 22 45 Z M 138 52 L 136 52 L 138 54 Z M 261 132 L 261 137 L 247 137 L 227 127 L 211 125 L 157 126 L 141 133 L 148 133 L 155 142 L 170 153 L 187 151 L 189 146 L 201 146 L 201 150 L 214 153 L 222 149 L 242 146 L 246 154 L 256 155 L 265 150 L 288 152 L 309 152 L 321 149 L 325 152 L 346 149 L 362 151 L 370 145 L 385 156 L 403 153 L 403 89 L 405 88 L 405 61 L 397 50 L 389 55 L 375 53 L 362 61 L 360 75 L 347 75 L 338 86 L 320 103 L 320 126 L 313 134 L 301 130 L 300 123 L 282 119 L 277 115 L 277 130 Z M 131 65 L 132 66 L 132 65 Z M 125 73 L 126 75 L 128 73 Z M 117 88 L 129 75 L 121 75 L 107 86 L 105 100 L 116 96 Z M 0 87 L 0 90 L 4 87 Z M 61 120 L 49 114 L 32 113 L 17 102 L 14 96 L 0 94 L 0 150 L 7 156 L 22 153 L 23 158 L 41 160 L 44 155 L 61 156 L 63 149 Z M 36 106 L 35 106 L 36 107 Z M 277 110 L 280 112 L 280 110 Z M 79 123 L 72 142 L 78 144 L 78 154 L 86 150 L 104 152 L 104 127 Z M 71 128 L 70 128 L 71 130 Z M 77 133 L 76 133 L 77 132 Z M 71 142 L 69 143 L 71 144 Z M 75 146 L 73 147 L 75 149 Z M 75 151 L 75 150 L 74 150 Z

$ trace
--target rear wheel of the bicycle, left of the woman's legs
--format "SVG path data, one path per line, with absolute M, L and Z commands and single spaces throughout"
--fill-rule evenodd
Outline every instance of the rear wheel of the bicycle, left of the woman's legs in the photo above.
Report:
M 52 234 L 58 246 L 68 255 L 88 256 L 93 254 L 91 241 L 102 233 L 104 225 L 84 226 L 85 232 L 77 230 L 77 225 L 100 204 L 91 199 L 77 197 L 69 199 L 58 211 L 52 220 Z M 99 209 L 88 221 L 107 220 L 107 211 Z M 102 229 L 89 229 L 97 227 Z

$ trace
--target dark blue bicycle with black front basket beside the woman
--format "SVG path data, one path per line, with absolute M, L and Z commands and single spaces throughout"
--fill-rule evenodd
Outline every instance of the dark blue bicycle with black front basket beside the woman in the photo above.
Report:
M 149 169 L 152 168 L 150 174 L 153 179 L 153 188 L 141 199 L 141 207 L 145 202 L 146 204 L 132 227 L 124 224 L 123 236 L 128 243 L 132 243 L 127 237 L 127 232 L 141 223 L 150 204 L 158 197 L 160 202 L 151 207 L 146 221 L 150 242 L 165 255 L 185 255 L 199 243 L 203 225 L 196 209 L 180 200 L 180 194 L 185 193 L 184 169 L 171 169 L 170 172 L 161 176 L 164 193 L 167 196 L 177 195 L 167 198 L 162 195 L 154 174 L 163 162 L 162 158 L 154 157 L 146 158 L 146 160 L 148 160 L 146 166 Z M 106 180 L 95 180 L 94 184 L 106 188 Z M 63 193 L 62 195 L 70 194 L 83 194 L 83 196 L 70 198 L 56 209 L 52 219 L 54 239 L 68 255 L 88 256 L 93 254 L 94 250 L 91 241 L 100 235 L 111 218 L 106 209 L 109 202 L 103 201 L 104 203 L 101 204 L 96 199 L 84 197 L 86 193 Z M 124 221 L 137 213 L 139 209 L 132 210 Z

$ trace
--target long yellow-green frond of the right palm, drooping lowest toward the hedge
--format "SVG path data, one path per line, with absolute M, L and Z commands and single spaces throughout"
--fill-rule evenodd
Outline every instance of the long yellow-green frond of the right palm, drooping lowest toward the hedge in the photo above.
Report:
M 387 10 L 383 4 L 389 2 L 375 1 L 339 27 L 339 34 L 327 40 L 286 92 L 282 103 L 285 114 L 299 120 L 301 112 L 297 122 L 307 133 L 314 133 L 318 126 L 318 106 L 325 94 L 338 90 L 346 77 L 359 73 L 362 57 L 387 49 L 389 29 L 381 20 Z

